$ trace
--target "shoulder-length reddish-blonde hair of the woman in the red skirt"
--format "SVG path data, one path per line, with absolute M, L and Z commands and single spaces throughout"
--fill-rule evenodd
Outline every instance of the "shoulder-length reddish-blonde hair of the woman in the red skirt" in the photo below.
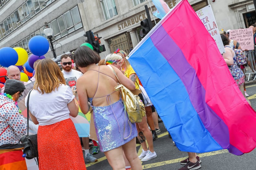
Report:
M 35 73 L 36 80 L 34 83 L 35 90 L 39 93 L 50 93 L 60 84 L 66 84 L 63 73 L 60 71 L 56 62 L 51 59 L 42 59 L 37 63 L 37 71 Z

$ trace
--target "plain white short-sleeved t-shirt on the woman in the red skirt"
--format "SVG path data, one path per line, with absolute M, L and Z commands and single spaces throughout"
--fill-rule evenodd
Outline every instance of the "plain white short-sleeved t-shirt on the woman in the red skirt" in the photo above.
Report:
M 69 86 L 61 84 L 51 93 L 39 93 L 32 90 L 29 97 L 29 110 L 37 118 L 39 125 L 51 125 L 69 118 L 68 103 L 75 96 Z M 27 106 L 27 97 L 25 98 Z

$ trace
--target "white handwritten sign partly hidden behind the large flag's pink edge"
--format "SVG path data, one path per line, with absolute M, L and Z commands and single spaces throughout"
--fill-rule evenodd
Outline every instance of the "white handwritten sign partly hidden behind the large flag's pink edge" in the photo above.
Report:
M 210 33 L 212 38 L 215 40 L 219 52 L 222 54 L 225 52 L 220 34 L 219 34 L 219 29 L 211 8 L 211 5 L 208 5 L 196 12 L 197 16 L 201 19 L 202 23 L 204 24 L 205 28 L 207 31 Z

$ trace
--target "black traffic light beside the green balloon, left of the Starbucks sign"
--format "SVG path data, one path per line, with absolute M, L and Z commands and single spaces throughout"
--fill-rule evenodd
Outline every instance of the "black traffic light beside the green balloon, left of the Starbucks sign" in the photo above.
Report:
M 91 30 L 86 31 L 84 36 L 87 37 L 87 40 L 85 42 L 90 43 L 94 51 L 98 53 L 106 51 L 105 45 L 100 45 L 101 37 L 95 37 L 93 32 L 91 32 Z

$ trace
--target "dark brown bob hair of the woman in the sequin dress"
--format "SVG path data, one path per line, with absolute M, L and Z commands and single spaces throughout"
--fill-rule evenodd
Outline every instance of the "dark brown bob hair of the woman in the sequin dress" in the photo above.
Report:
M 81 46 L 74 53 L 74 60 L 77 67 L 87 67 L 90 64 L 97 64 L 101 57 L 87 46 Z

